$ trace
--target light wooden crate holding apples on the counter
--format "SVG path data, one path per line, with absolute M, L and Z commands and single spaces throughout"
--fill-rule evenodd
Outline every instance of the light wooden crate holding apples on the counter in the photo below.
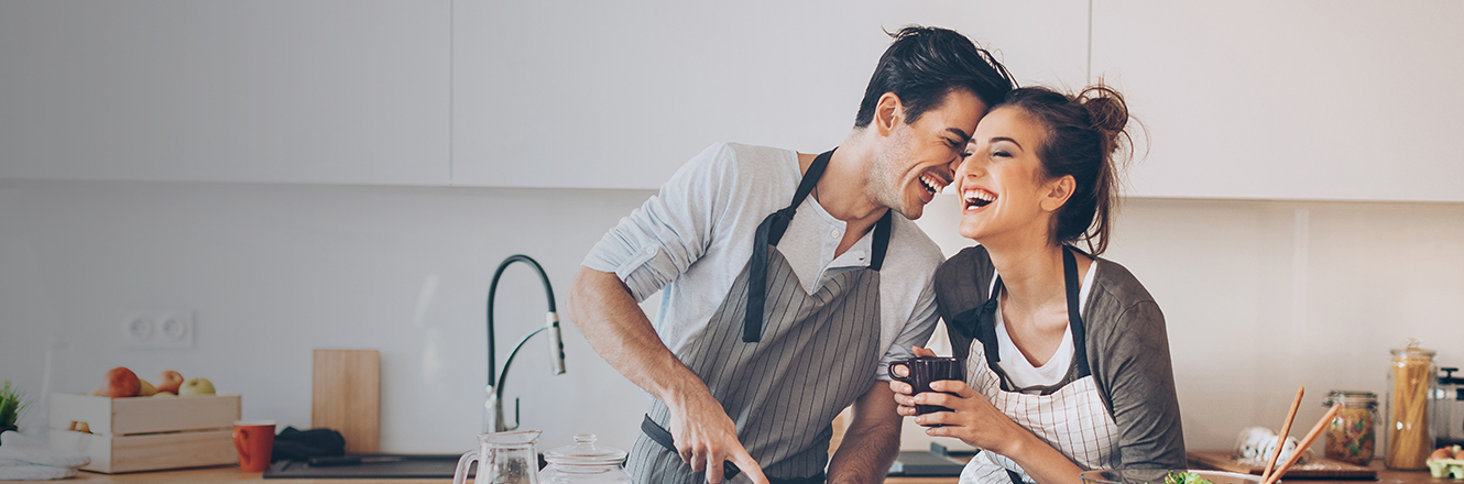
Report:
M 82 469 L 116 474 L 237 464 L 239 395 L 105 398 L 51 393 L 51 447 L 86 453 Z M 91 434 L 70 431 L 83 421 Z

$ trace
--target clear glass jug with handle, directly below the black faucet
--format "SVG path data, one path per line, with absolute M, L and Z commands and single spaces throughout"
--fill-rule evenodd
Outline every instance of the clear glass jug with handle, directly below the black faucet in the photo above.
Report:
M 477 450 L 470 450 L 458 459 L 452 484 L 467 481 L 467 466 L 473 461 L 477 461 L 474 484 L 539 484 L 536 439 L 539 439 L 537 430 L 477 434 Z

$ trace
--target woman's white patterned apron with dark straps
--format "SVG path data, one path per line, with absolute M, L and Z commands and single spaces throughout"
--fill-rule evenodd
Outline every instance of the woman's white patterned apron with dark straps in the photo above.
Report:
M 1092 271 L 1092 269 L 1089 269 Z M 1092 370 L 1088 367 L 1086 329 L 1079 313 L 1078 262 L 1072 249 L 1063 250 L 1063 272 L 1067 285 L 1067 325 L 1073 333 L 1073 364 L 1078 379 L 1048 395 L 1009 392 L 1001 387 L 997 367 L 996 310 L 1001 295 L 1001 276 L 991 285 L 991 298 L 971 311 L 953 317 L 956 326 L 969 329 L 971 355 L 966 374 L 972 389 L 984 395 L 1022 428 L 1061 452 L 1083 469 L 1116 465 L 1118 424 L 1098 393 Z M 960 484 L 1022 484 L 1035 483 L 1012 459 L 996 452 L 981 452 L 960 472 Z

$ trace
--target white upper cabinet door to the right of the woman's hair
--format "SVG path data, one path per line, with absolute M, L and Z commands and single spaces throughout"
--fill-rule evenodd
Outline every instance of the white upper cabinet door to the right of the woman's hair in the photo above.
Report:
M 1461 1 L 1095 0 L 1092 73 L 1148 127 L 1136 194 L 1458 202 L 1461 26 Z

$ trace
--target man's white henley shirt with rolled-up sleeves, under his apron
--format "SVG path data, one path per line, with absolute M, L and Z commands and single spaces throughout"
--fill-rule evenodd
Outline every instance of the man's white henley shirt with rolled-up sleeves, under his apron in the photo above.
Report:
M 619 221 L 584 266 L 613 272 L 637 301 L 662 294 L 656 332 L 672 352 L 701 336 L 752 256 L 757 225 L 788 206 L 802 173 L 788 149 L 716 143 L 676 171 L 656 196 Z M 946 259 L 915 222 L 895 215 L 880 269 L 880 349 L 889 363 L 915 357 L 935 330 L 934 273 Z M 834 257 L 848 224 L 814 197 L 798 206 L 777 252 L 808 292 L 834 275 L 870 266 L 874 231 Z

